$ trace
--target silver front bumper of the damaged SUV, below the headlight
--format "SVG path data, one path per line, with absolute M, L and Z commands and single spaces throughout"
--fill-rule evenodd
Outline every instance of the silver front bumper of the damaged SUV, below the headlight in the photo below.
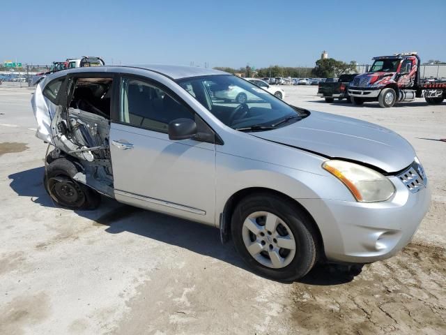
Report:
M 328 260 L 376 262 L 390 258 L 410 242 L 429 209 L 429 184 L 411 193 L 398 177 L 390 180 L 397 191 L 385 202 L 298 200 L 318 224 Z

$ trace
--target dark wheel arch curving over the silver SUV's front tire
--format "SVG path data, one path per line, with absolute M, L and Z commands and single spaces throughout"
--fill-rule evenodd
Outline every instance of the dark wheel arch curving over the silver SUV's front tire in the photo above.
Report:
M 285 198 L 287 200 L 290 200 L 296 208 L 300 209 L 307 217 L 309 218 L 309 223 L 312 225 L 312 228 L 314 230 L 314 233 L 316 234 L 316 241 L 318 244 L 318 247 L 320 247 L 320 255 L 325 257 L 325 252 L 323 250 L 323 238 L 321 234 L 321 230 L 319 229 L 316 221 L 314 220 L 312 214 L 307 211 L 307 209 L 298 202 L 298 200 L 295 200 L 291 198 L 289 195 L 286 195 L 285 193 L 282 193 L 280 191 L 273 190 L 272 188 L 266 188 L 266 187 L 248 187 L 243 188 L 237 191 L 236 193 L 233 193 L 231 197 L 229 197 L 228 200 L 226 200 L 226 203 L 224 204 L 223 211 L 220 213 L 220 237 L 222 239 L 222 242 L 229 241 L 231 236 L 231 218 L 234 209 L 236 208 L 236 204 L 242 200 L 243 198 L 246 198 L 249 195 L 256 194 L 256 193 L 270 193 L 272 195 L 278 195 L 281 198 Z

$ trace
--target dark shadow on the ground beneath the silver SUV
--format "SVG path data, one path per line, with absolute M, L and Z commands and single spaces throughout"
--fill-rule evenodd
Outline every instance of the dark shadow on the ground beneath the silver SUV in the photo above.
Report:
M 10 187 L 20 197 L 29 197 L 35 204 L 57 207 L 47 195 L 43 186 L 43 167 L 10 174 Z M 201 225 L 174 216 L 155 213 L 128 206 L 109 198 L 102 198 L 102 204 L 94 211 L 76 211 L 76 214 L 93 221 L 93 225 L 106 225 L 105 232 L 119 234 L 132 232 L 166 244 L 180 246 L 194 253 L 210 256 L 228 262 L 247 271 L 250 269 L 237 255 L 231 243 L 220 242 L 219 231 L 208 225 Z M 339 265 L 316 265 L 298 282 L 310 285 L 339 285 L 353 280 L 351 272 Z

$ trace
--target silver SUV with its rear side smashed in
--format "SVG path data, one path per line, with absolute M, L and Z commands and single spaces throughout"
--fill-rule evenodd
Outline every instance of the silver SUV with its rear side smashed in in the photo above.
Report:
M 389 258 L 429 208 L 426 174 L 396 133 L 221 71 L 63 70 L 32 106 L 54 147 L 44 176 L 54 202 L 94 209 L 105 195 L 213 225 L 270 278 L 300 278 L 317 260 Z

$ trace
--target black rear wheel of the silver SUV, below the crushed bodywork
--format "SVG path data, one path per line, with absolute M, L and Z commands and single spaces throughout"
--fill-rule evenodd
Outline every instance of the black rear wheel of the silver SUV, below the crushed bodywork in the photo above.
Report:
M 67 158 L 58 158 L 49 165 L 43 177 L 43 184 L 49 196 L 68 209 L 96 209 L 100 204 L 100 194 L 92 188 L 78 183 L 73 177 L 79 168 Z

